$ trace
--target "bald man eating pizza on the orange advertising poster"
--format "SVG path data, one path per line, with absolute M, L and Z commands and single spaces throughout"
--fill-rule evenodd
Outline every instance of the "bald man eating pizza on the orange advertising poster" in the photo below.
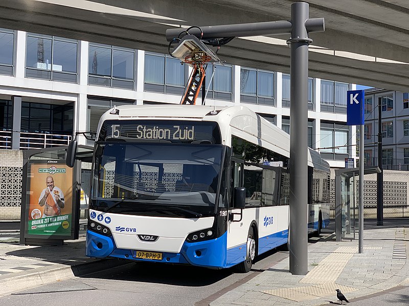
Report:
M 60 188 L 54 185 L 54 178 L 49 175 L 46 179 L 47 187 L 41 191 L 38 205 L 43 207 L 42 218 L 59 216 L 61 208 L 65 206 L 64 194 Z

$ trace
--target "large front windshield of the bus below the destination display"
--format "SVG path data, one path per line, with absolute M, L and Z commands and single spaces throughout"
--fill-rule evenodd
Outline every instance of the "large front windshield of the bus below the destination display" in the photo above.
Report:
M 222 145 L 99 143 L 92 206 L 106 211 L 116 205 L 118 212 L 143 203 L 213 212 L 222 153 Z

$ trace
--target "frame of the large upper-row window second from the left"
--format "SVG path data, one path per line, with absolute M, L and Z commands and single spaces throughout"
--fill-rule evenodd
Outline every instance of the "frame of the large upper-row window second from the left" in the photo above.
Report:
M 28 49 L 28 40 L 29 38 L 36 38 L 36 39 L 48 39 L 51 40 L 51 69 L 41 69 L 41 68 L 35 68 L 35 67 L 28 67 L 27 66 L 27 49 Z M 54 70 L 54 42 L 55 41 L 60 41 L 60 42 L 66 42 L 66 43 L 75 43 L 76 44 L 76 57 L 75 57 L 75 72 L 72 71 L 59 71 L 59 70 Z M 55 81 L 55 82 L 64 82 L 64 83 L 78 83 L 78 75 L 79 75 L 79 41 L 75 39 L 70 39 L 70 38 L 65 38 L 65 37 L 60 37 L 60 36 L 54 36 L 54 35 L 44 35 L 44 34 L 38 34 L 38 33 L 27 33 L 26 34 L 26 58 L 25 58 L 25 77 L 30 78 L 30 79 L 42 79 L 42 80 L 49 80 L 49 81 Z M 29 74 L 31 71 L 37 73 Z M 40 73 L 42 72 L 42 73 Z M 44 73 L 46 72 L 46 73 Z M 36 74 L 36 76 L 34 76 Z M 44 77 L 46 75 L 47 77 Z M 63 79 L 63 78 L 57 78 L 57 75 L 71 75 L 73 78 L 73 81 Z

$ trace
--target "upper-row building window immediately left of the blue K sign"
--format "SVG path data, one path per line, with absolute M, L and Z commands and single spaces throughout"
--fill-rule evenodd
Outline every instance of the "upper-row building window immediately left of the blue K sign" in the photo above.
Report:
M 346 114 L 349 85 L 334 81 L 321 81 L 321 110 Z

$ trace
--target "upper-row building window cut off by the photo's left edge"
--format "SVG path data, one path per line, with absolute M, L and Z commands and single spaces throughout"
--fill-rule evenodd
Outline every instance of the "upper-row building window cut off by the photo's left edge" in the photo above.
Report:
M 13 75 L 14 31 L 0 29 L 0 74 Z

